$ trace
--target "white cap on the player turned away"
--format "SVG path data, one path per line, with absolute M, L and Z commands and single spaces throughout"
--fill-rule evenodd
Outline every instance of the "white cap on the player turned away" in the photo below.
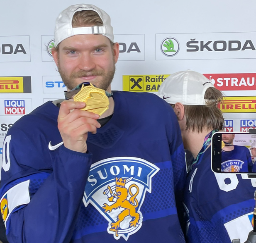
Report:
M 169 104 L 206 105 L 205 91 L 211 87 L 215 88 L 202 74 L 191 70 L 179 71 L 163 81 L 158 96 Z

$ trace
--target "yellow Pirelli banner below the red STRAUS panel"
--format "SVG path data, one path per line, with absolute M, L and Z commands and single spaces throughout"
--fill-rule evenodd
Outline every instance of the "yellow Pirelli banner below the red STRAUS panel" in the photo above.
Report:
M 223 113 L 252 113 L 256 112 L 256 96 L 224 97 L 218 105 Z

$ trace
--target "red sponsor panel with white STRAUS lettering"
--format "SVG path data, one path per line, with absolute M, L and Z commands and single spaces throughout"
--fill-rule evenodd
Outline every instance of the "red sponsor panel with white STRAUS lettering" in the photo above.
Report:
M 256 90 L 256 73 L 249 74 L 204 74 L 215 88 L 223 91 Z

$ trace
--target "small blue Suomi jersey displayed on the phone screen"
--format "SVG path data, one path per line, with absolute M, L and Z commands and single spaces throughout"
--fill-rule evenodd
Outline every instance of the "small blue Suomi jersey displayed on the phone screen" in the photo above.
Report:
M 248 148 L 234 145 L 231 151 L 222 150 L 222 171 L 223 172 L 252 172 L 253 163 Z

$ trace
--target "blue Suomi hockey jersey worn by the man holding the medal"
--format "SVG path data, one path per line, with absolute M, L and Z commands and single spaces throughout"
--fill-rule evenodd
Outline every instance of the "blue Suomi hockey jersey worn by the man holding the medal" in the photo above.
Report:
M 9 129 L 1 212 L 10 243 L 182 243 L 185 158 L 176 115 L 149 93 L 115 91 L 89 153 L 65 148 L 47 102 Z

